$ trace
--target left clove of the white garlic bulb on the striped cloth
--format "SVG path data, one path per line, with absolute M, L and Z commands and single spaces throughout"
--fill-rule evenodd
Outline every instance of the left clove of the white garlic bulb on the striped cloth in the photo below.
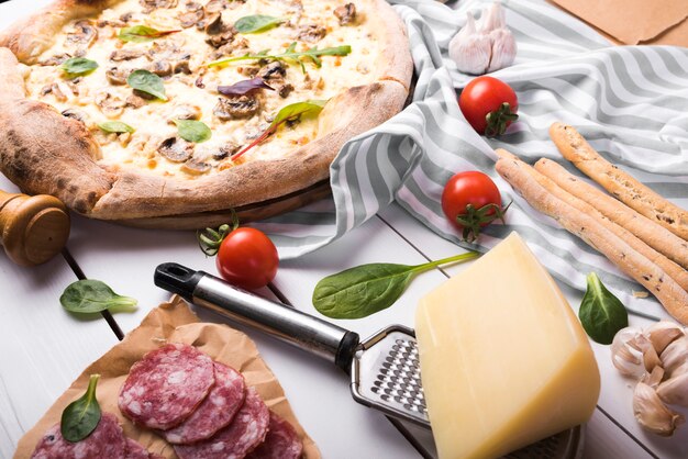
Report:
M 481 75 L 490 65 L 491 53 L 489 36 L 478 33 L 473 14 L 466 13 L 466 25 L 450 42 L 450 57 L 460 71 Z

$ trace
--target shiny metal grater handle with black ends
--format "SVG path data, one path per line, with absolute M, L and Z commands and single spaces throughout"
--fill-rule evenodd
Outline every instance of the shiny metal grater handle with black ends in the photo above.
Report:
M 266 300 L 203 271 L 166 262 L 155 269 L 155 284 L 234 322 L 320 356 L 347 373 L 358 334 Z

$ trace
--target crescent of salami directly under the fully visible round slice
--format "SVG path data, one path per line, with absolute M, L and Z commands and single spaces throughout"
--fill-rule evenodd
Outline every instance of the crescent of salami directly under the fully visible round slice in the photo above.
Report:
M 215 385 L 185 422 L 160 435 L 171 444 L 191 444 L 212 437 L 226 427 L 244 404 L 244 377 L 230 367 L 214 362 Z

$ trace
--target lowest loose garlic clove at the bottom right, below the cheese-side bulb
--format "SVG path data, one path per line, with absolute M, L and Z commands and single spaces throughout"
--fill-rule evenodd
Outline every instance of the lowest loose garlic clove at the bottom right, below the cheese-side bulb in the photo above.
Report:
M 669 410 L 655 390 L 644 382 L 635 387 L 633 414 L 645 429 L 664 437 L 674 435 L 676 427 L 685 422 L 684 416 Z

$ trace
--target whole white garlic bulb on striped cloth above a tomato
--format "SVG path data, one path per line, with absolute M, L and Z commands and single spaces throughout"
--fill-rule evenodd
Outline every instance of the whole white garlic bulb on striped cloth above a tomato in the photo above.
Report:
M 479 26 L 473 14 L 466 13 L 466 25 L 450 42 L 450 57 L 465 74 L 482 75 L 508 67 L 515 53 L 515 38 L 498 2 L 489 11 L 482 11 Z

